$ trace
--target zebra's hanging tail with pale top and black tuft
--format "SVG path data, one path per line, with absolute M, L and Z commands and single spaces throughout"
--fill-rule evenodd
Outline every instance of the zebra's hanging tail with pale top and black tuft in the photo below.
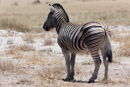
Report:
M 106 49 L 106 54 L 108 57 L 108 62 L 112 62 L 112 48 L 111 48 L 111 41 L 110 41 L 110 31 L 106 31 L 106 39 L 107 39 L 107 49 Z

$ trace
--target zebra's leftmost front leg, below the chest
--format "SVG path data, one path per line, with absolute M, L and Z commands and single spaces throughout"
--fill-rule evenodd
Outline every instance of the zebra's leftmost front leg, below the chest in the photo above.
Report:
M 68 50 L 62 50 L 62 53 L 65 57 L 66 61 L 66 67 L 67 67 L 67 77 L 63 79 L 64 81 L 70 81 L 71 80 L 71 73 L 70 73 L 70 51 Z

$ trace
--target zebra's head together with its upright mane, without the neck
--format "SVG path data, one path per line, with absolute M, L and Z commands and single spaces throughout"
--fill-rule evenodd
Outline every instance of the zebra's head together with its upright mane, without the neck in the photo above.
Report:
M 61 14 L 62 17 L 65 19 L 66 22 L 69 22 L 69 17 L 66 14 L 64 8 L 58 4 L 55 3 L 53 5 L 49 4 L 49 8 L 50 8 L 50 12 L 48 14 L 47 20 L 45 21 L 44 25 L 43 25 L 43 29 L 46 31 L 49 31 L 50 29 L 56 27 L 55 24 L 55 14 Z

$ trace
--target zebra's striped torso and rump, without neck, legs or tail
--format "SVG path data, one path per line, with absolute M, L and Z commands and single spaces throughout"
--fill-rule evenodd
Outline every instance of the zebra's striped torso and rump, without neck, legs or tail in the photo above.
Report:
M 58 44 L 73 53 L 98 50 L 105 36 L 104 25 L 89 22 L 80 26 L 66 23 L 60 29 Z

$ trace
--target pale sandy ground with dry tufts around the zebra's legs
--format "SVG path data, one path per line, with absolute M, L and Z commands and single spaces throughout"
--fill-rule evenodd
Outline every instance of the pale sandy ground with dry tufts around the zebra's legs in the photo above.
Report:
M 126 30 L 129 26 L 118 26 L 113 29 Z M 34 42 L 28 43 L 23 39 L 28 33 L 20 33 L 0 30 L 0 87 L 129 87 L 130 86 L 130 58 L 113 58 L 113 63 L 109 64 L 109 80 L 102 81 L 104 76 L 104 65 L 101 64 L 98 78 L 95 83 L 87 83 L 92 75 L 94 63 L 90 55 L 78 54 L 75 65 L 75 82 L 64 82 L 62 78 L 66 77 L 65 60 L 61 49 L 57 45 L 55 32 L 44 32 L 45 37 L 37 36 Z M 45 39 L 51 38 L 52 45 L 45 46 Z M 42 53 L 41 61 L 38 58 L 33 61 L 26 57 L 14 58 L 16 55 L 7 55 L 6 51 L 12 45 L 31 45 L 35 51 L 22 51 L 22 55 L 28 55 L 30 58 L 34 53 Z M 116 51 L 118 44 L 112 42 L 113 51 Z M 40 54 L 36 55 L 39 56 Z M 115 54 L 114 54 L 115 55 Z M 14 57 L 13 57 L 14 56 Z M 16 56 L 17 57 L 17 56 Z M 44 60 L 42 60 L 42 58 Z M 46 59 L 47 58 L 47 59 Z M 49 60 L 49 61 L 45 61 Z M 53 62 L 55 61 L 55 62 Z

